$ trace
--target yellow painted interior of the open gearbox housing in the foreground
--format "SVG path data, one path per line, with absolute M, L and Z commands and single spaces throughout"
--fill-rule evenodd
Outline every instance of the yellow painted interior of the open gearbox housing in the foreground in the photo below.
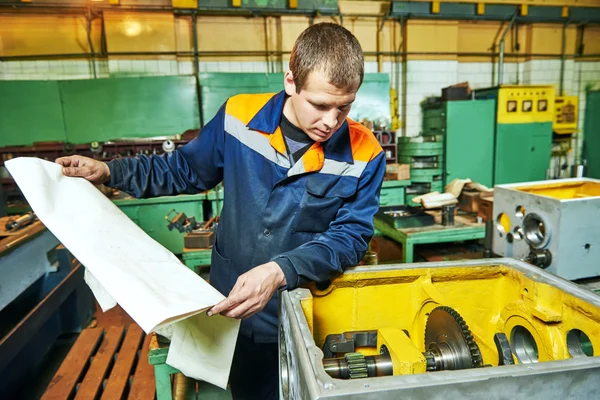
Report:
M 529 332 L 540 362 L 570 358 L 567 335 L 573 330 L 589 338 L 594 356 L 600 354 L 599 308 L 503 265 L 346 273 L 324 291 L 310 289 L 303 310 L 316 345 L 329 334 L 378 330 L 372 351 L 386 344 L 394 375 L 425 371 L 419 356 L 425 324 L 441 305 L 464 318 L 484 364 L 498 365 L 494 335 L 512 340 L 515 330 Z

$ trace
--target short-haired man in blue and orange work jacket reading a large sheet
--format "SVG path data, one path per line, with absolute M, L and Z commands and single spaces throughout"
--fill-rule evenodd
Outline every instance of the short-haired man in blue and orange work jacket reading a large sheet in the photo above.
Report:
M 385 154 L 346 118 L 363 75 L 356 38 L 316 24 L 294 45 L 285 91 L 230 98 L 180 149 L 108 164 L 57 160 L 65 175 L 136 197 L 198 193 L 223 181 L 210 283 L 228 297 L 208 314 L 242 319 L 235 399 L 278 396 L 277 290 L 358 264 L 373 235 Z

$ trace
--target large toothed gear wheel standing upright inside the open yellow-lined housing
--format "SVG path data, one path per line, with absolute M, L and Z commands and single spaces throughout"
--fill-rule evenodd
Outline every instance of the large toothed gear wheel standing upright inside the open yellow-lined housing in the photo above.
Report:
M 425 349 L 428 361 L 433 356 L 436 371 L 483 366 L 481 351 L 469 326 L 451 307 L 439 306 L 429 313 L 425 326 Z

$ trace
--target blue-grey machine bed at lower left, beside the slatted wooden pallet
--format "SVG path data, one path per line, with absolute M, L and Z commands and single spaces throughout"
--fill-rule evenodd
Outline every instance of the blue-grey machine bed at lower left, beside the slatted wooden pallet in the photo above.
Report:
M 18 398 L 56 339 L 79 332 L 95 303 L 73 260 L 35 215 L 0 217 L 0 393 Z

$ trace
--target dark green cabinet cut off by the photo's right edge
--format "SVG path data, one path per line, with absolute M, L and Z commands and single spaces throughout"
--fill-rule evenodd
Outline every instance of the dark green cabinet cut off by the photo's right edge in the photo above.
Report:
M 587 92 L 583 137 L 587 176 L 600 179 L 600 91 L 598 90 Z

